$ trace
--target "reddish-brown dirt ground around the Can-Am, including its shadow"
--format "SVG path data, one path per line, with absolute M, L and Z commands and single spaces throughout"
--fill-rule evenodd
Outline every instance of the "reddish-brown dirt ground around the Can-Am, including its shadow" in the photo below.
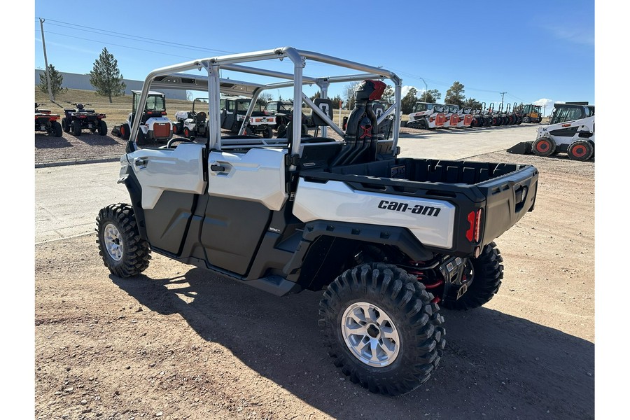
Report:
M 444 357 L 412 393 L 337 371 L 321 293 L 274 297 L 155 254 L 118 279 L 85 235 L 35 247 L 34 418 L 594 419 L 594 161 L 472 159 L 538 167 L 535 210 L 496 240 L 498 295 L 442 309 Z

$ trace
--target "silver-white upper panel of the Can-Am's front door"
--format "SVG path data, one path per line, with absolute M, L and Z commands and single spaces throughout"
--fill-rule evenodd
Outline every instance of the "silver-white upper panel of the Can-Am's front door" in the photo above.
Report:
M 204 144 L 183 143 L 174 149 L 146 148 L 127 155 L 142 187 L 142 208 L 153 209 L 165 190 L 203 194 Z M 124 169 L 124 167 L 123 167 Z

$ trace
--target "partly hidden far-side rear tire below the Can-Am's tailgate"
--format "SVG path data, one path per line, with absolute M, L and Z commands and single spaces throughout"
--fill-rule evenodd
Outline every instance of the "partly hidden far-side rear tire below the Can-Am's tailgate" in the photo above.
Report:
M 468 260 L 465 275 L 469 279 L 472 276 L 472 282 L 468 285 L 466 293 L 454 302 L 442 302 L 442 306 L 447 309 L 465 311 L 488 303 L 501 286 L 503 279 L 501 262 L 503 262 L 503 257 L 494 242 L 484 246 L 479 257 Z

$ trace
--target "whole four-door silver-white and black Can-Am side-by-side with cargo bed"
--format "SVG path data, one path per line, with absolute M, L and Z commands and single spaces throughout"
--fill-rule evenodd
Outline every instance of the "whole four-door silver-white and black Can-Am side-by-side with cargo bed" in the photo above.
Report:
M 290 73 L 253 66 L 269 60 Z M 303 73 L 318 63 L 342 69 Z M 399 92 L 402 80 L 384 67 L 291 47 L 153 70 L 139 109 L 151 88 L 190 90 L 190 77 L 172 73 L 198 69 L 207 69 L 205 80 L 195 72 L 194 85 L 210 98 L 209 136 L 204 143 L 127 144 L 119 182 L 129 204 L 111 204 L 97 216 L 104 265 L 114 276 L 134 277 L 159 253 L 276 295 L 323 291 L 318 323 L 342 374 L 388 395 L 427 381 L 446 345 L 440 307 L 477 308 L 498 292 L 503 258 L 494 240 L 533 210 L 538 170 L 399 156 L 400 99 L 380 116 L 374 102 L 385 90 L 382 79 Z M 222 69 L 274 83 L 221 79 Z M 317 85 L 326 99 L 331 81 L 360 80 L 345 131 L 302 90 Z M 301 124 L 286 138 L 244 134 L 259 95 L 292 84 L 293 103 L 303 101 L 320 119 L 317 127 L 327 125 L 322 137 L 304 137 Z M 251 101 L 239 134 L 223 136 L 228 105 L 220 95 L 246 88 Z M 392 115 L 392 138 L 383 139 L 381 124 Z M 301 120 L 295 106 L 292 121 Z M 134 124 L 132 139 L 138 130 Z M 328 130 L 342 140 L 326 137 Z M 277 317 L 275 323 L 289 325 Z

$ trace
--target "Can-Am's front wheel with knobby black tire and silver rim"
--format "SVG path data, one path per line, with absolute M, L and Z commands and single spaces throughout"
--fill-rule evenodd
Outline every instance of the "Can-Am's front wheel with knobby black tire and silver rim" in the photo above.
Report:
M 149 265 L 151 250 L 138 232 L 134 209 L 130 204 L 110 204 L 96 219 L 99 255 L 111 274 L 137 276 Z

